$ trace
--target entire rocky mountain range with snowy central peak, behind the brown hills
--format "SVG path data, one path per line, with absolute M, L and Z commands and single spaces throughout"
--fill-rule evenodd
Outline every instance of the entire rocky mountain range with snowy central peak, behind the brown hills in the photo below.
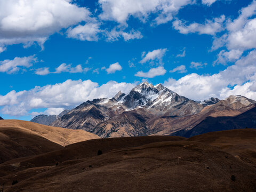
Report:
M 244 114 L 254 116 L 255 103 L 241 95 L 198 102 L 162 84 L 154 86 L 143 82 L 127 94 L 119 91 L 113 98 L 86 101 L 56 116 L 55 121 L 51 119 L 46 123 L 68 129 L 82 129 L 102 138 L 143 135 L 191 137 L 210 131 L 255 127 L 256 122 L 251 121 L 249 124 Z M 236 122 L 238 116 L 239 123 Z M 50 116 L 39 117 L 33 121 L 40 123 L 37 119 L 50 119 Z M 233 123 L 227 126 L 228 122 Z M 213 123 L 218 126 L 213 126 Z

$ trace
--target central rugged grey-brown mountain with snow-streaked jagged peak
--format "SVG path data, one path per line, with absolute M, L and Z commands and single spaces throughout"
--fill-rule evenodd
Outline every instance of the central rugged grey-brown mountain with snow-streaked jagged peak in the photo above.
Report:
M 162 84 L 154 86 L 143 82 L 127 94 L 119 91 L 113 98 L 86 101 L 51 125 L 83 129 L 101 137 L 113 137 L 114 132 L 119 137 L 145 135 L 154 132 L 148 124 L 152 119 L 194 115 L 205 106 Z

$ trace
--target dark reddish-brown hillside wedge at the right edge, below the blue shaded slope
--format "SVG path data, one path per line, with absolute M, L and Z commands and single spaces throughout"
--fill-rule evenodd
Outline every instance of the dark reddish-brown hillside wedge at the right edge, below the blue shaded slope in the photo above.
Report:
M 256 167 L 256 129 L 210 132 L 188 140 L 218 147 Z

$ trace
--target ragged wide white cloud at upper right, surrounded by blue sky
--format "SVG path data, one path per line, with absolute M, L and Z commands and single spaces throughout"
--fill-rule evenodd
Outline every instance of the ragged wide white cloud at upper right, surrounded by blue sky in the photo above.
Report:
M 175 20 L 172 25 L 181 34 L 198 33 L 215 35 L 224 29 L 222 26 L 223 21 L 225 21 L 225 15 L 221 15 L 220 18 L 214 18 L 213 20 L 206 19 L 204 24 L 191 23 L 190 25 L 186 25 L 186 23 L 180 20 Z

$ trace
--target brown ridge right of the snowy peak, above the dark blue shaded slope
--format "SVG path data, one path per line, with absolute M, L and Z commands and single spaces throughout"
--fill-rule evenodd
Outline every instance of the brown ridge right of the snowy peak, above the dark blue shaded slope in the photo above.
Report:
M 251 99 L 231 95 L 229 98 L 225 100 L 220 100 L 214 105 L 206 106 L 200 113 L 195 115 L 185 117 L 165 116 L 157 119 L 152 119 L 151 122 L 149 122 L 149 127 L 151 130 L 155 130 L 155 135 L 180 135 L 189 138 L 191 136 L 194 136 L 195 134 L 188 135 L 186 133 L 191 131 L 194 127 L 198 126 L 204 120 L 206 121 L 207 118 L 232 118 L 237 115 L 241 115 L 246 111 L 249 111 L 250 109 L 253 109 L 255 107 L 254 103 L 255 101 Z M 244 118 L 244 120 L 246 121 L 246 118 Z M 212 126 L 212 131 L 225 130 L 218 129 L 218 126 L 213 124 L 212 122 L 205 123 L 204 129 L 206 130 L 208 129 L 208 127 L 210 129 L 210 126 Z M 198 132 L 197 134 L 202 134 L 205 132 Z

